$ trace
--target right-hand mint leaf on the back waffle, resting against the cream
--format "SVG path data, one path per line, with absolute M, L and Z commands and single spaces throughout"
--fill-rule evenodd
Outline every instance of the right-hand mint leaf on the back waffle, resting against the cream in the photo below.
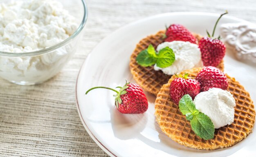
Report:
M 175 61 L 175 54 L 173 53 L 173 50 L 169 47 L 161 49 L 157 56 L 157 67 L 168 67 L 171 66 Z

